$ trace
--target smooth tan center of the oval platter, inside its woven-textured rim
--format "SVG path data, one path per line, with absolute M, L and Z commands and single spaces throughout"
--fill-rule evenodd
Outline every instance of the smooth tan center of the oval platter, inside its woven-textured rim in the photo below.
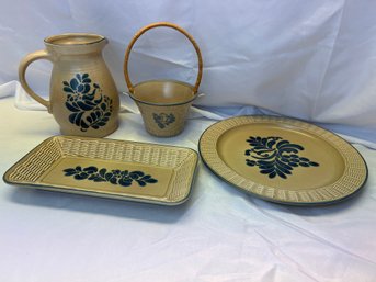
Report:
M 281 189 L 303 191 L 328 185 L 344 171 L 344 160 L 333 146 L 308 131 L 284 124 L 239 125 L 220 136 L 217 150 L 239 174 Z

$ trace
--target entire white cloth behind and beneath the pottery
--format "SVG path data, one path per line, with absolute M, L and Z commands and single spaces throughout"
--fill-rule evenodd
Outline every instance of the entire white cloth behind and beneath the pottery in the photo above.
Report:
M 0 9 L 0 176 L 58 134 L 53 116 L 25 100 L 16 70 L 43 38 L 65 32 L 105 35 L 119 91 L 134 33 L 174 22 L 201 46 L 212 119 L 274 112 L 319 123 L 376 146 L 376 1 L 365 0 L 2 0 Z M 132 78 L 193 82 L 193 48 L 174 32 L 150 31 L 135 46 Z M 27 79 L 48 92 L 50 65 Z M 8 95 L 8 97 L 7 97 Z M 133 108 L 130 102 L 124 105 Z M 265 110 L 254 109 L 252 105 Z M 221 108 L 214 108 L 221 106 Z M 132 109 L 130 109 L 132 110 Z M 208 115 L 209 114 L 209 115 Z M 122 113 L 110 137 L 197 149 L 213 124 L 190 120 L 174 138 L 148 135 Z M 364 142 L 368 140 L 368 143 Z M 351 139 L 356 142 L 356 139 Z M 356 198 L 289 207 L 233 189 L 203 163 L 191 200 L 162 207 L 0 184 L 0 281 L 369 281 L 376 277 L 376 150 L 355 145 L 369 178 Z

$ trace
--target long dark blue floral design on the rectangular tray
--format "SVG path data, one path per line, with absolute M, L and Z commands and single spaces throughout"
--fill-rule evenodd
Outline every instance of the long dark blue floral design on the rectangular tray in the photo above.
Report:
M 158 180 L 151 176 L 145 174 L 143 171 L 119 170 L 113 169 L 107 171 L 106 168 L 98 169 L 94 166 L 82 168 L 67 168 L 64 170 L 66 177 L 73 177 L 76 180 L 91 180 L 94 182 L 110 182 L 114 185 L 130 187 L 133 181 L 136 181 L 140 187 L 148 183 L 157 183 Z

